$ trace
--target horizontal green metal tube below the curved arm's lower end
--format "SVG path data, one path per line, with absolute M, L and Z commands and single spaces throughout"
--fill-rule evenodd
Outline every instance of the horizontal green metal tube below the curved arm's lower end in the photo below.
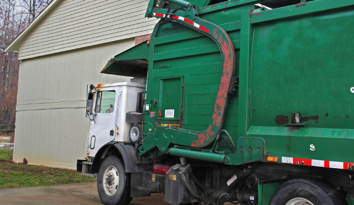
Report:
M 224 163 L 225 155 L 213 154 L 208 152 L 192 151 L 187 149 L 170 148 L 168 153 L 174 156 L 188 157 L 192 159 L 200 159 L 217 163 Z

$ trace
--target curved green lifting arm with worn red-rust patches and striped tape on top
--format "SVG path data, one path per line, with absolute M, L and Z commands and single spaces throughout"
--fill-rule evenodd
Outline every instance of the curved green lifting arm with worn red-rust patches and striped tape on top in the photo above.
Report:
M 208 128 L 204 132 L 188 131 L 178 128 L 158 128 L 156 132 L 147 138 L 140 147 L 140 155 L 157 146 L 161 152 L 166 153 L 170 143 L 193 148 L 203 148 L 211 144 L 217 137 L 223 126 L 226 107 L 228 103 L 228 92 L 232 85 L 232 76 L 235 72 L 235 52 L 228 34 L 213 23 L 199 18 L 198 10 L 191 3 L 183 0 L 164 0 L 158 6 L 157 0 L 150 0 L 145 17 L 165 18 L 170 22 L 176 22 L 197 30 L 211 37 L 219 46 L 222 56 L 222 75 L 219 83 L 217 99 L 213 108 L 213 114 Z M 166 4 L 174 3 L 183 8 L 165 9 Z M 185 10 L 185 12 L 181 11 Z M 183 136 L 183 137 L 178 137 Z M 187 140 L 182 140 L 182 138 Z

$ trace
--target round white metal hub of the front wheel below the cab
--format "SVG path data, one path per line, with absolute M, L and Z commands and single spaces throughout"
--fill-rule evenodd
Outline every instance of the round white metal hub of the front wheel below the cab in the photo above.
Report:
M 104 178 L 103 178 L 103 187 L 105 189 L 105 192 L 107 195 L 113 195 L 119 185 L 119 174 L 117 169 L 114 166 L 109 166 L 105 173 L 104 173 Z

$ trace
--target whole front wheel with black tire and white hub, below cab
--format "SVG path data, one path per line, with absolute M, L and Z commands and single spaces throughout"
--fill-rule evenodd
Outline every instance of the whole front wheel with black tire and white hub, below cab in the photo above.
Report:
M 130 174 L 125 173 L 122 161 L 114 155 L 106 157 L 97 176 L 97 190 L 107 205 L 127 205 L 130 198 Z

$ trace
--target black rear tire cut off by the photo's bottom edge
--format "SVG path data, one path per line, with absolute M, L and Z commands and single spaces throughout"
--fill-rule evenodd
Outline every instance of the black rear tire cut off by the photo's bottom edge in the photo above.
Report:
M 345 195 L 329 182 L 319 179 L 292 179 L 272 195 L 270 205 L 347 205 Z

